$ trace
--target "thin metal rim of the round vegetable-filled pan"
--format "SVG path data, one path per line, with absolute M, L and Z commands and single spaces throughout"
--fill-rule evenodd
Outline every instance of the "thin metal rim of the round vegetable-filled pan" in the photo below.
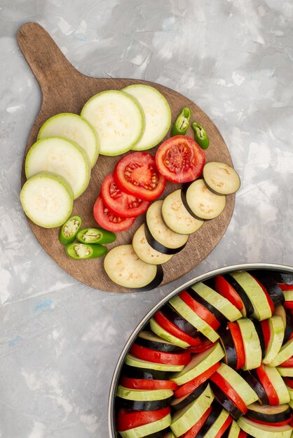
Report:
M 121 372 L 121 367 L 123 365 L 125 355 L 128 353 L 133 341 L 135 341 L 135 338 L 137 337 L 137 334 L 143 329 L 145 325 L 149 322 L 150 318 L 154 316 L 156 311 L 158 311 L 166 302 L 169 301 L 170 298 L 174 297 L 175 295 L 179 294 L 182 290 L 185 288 L 189 288 L 189 286 L 193 285 L 194 283 L 198 283 L 200 281 L 206 281 L 209 278 L 212 278 L 216 275 L 222 275 L 227 274 L 228 272 L 233 271 L 241 271 L 241 270 L 253 270 L 253 269 L 267 269 L 267 270 L 273 270 L 273 271 L 280 271 L 287 274 L 293 274 L 293 267 L 285 266 L 282 264 L 271 264 L 271 263 L 250 263 L 250 264 L 236 264 L 229 267 L 219 268 L 215 269 L 214 271 L 207 272 L 207 274 L 203 274 L 200 276 L 197 276 L 195 278 L 192 278 L 190 281 L 187 281 L 186 283 L 179 286 L 179 288 L 173 290 L 170 292 L 165 298 L 161 299 L 156 306 L 154 306 L 149 313 L 142 319 L 142 321 L 137 325 L 136 329 L 132 334 L 130 335 L 130 338 L 125 344 L 125 347 L 123 348 L 123 351 L 120 355 L 120 358 L 118 359 L 118 363 L 116 365 L 116 369 L 114 371 L 114 376 L 111 381 L 111 387 L 110 387 L 110 393 L 109 393 L 109 409 L 108 409 L 108 423 L 109 423 L 109 435 L 111 438 L 115 438 L 117 436 L 117 432 L 115 430 L 114 425 L 114 402 L 115 402 L 115 395 L 116 395 L 116 388 L 118 385 L 118 379 Z

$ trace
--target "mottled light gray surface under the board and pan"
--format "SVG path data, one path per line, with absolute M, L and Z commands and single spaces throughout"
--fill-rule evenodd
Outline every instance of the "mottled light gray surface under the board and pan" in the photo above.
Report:
M 293 264 L 292 0 L 0 1 L 0 437 L 106 438 L 111 376 L 129 334 L 175 285 L 242 262 Z M 15 38 L 36 21 L 96 77 L 142 78 L 219 127 L 242 187 L 217 248 L 181 281 L 116 295 L 65 274 L 20 206 L 41 93 Z

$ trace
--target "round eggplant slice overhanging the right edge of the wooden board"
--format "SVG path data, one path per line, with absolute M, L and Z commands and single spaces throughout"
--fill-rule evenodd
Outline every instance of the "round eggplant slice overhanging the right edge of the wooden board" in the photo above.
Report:
M 219 195 L 231 195 L 240 188 L 240 178 L 236 170 L 221 162 L 205 164 L 203 179 L 207 187 Z

